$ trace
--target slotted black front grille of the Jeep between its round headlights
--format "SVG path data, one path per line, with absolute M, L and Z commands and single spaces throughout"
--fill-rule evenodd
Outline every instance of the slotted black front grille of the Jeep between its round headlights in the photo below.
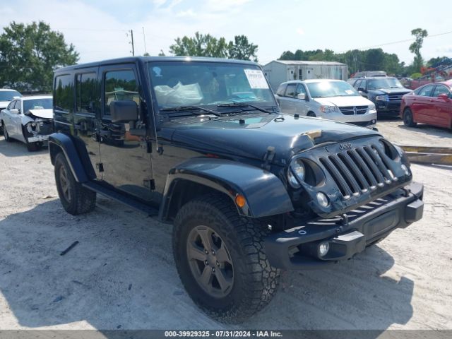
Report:
M 346 199 L 397 180 L 388 158 L 377 145 L 343 150 L 319 160 Z

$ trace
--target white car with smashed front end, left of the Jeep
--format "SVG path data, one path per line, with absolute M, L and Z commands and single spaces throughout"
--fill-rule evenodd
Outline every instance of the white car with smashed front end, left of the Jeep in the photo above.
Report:
M 5 140 L 22 141 L 28 150 L 39 150 L 54 131 L 52 95 L 19 97 L 0 112 Z

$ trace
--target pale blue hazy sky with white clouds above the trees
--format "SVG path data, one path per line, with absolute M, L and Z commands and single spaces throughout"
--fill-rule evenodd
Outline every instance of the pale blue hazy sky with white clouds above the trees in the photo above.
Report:
M 133 30 L 136 55 L 169 55 L 176 37 L 198 31 L 227 41 L 246 35 L 258 45 L 261 64 L 287 50 L 369 47 L 409 64 L 412 41 L 400 41 L 412 39 L 414 28 L 430 35 L 421 50 L 424 59 L 452 57 L 447 13 L 417 0 L 1 0 L 0 25 L 43 20 L 76 47 L 80 63 L 131 55 Z

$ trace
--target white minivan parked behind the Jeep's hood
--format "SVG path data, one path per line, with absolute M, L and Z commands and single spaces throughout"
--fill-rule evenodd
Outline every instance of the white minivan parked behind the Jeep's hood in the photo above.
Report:
M 283 113 L 342 121 L 369 129 L 376 125 L 374 103 L 345 81 L 287 81 L 280 85 L 275 97 Z

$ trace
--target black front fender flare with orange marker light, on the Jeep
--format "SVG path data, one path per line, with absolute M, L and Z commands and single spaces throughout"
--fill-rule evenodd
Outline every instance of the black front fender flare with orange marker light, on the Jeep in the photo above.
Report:
M 287 189 L 275 174 L 232 160 L 197 157 L 169 171 L 160 205 L 160 220 L 167 219 L 174 187 L 181 180 L 226 194 L 234 202 L 238 213 L 246 217 L 261 218 L 294 210 Z M 242 208 L 235 204 L 237 194 L 246 199 Z

